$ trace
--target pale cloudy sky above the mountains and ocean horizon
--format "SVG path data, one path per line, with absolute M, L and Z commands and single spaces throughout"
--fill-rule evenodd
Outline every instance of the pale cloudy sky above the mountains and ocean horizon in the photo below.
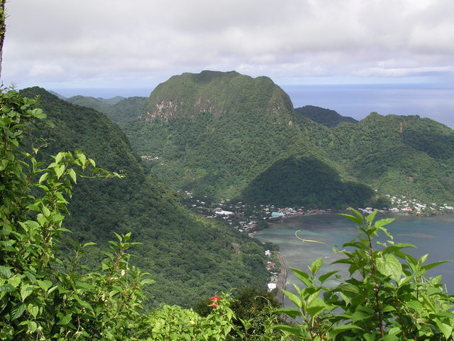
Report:
M 236 70 L 299 87 L 294 102 L 308 86 L 443 90 L 430 100 L 454 116 L 453 0 L 9 0 L 6 11 L 4 85 L 148 96 L 172 75 Z

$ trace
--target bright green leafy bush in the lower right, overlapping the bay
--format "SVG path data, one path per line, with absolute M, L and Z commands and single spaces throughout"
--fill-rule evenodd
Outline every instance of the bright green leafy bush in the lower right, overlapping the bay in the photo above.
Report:
M 337 271 L 317 276 L 322 259 L 308 273 L 292 269 L 304 287 L 296 286 L 296 294 L 285 291 L 296 308 L 279 311 L 301 323 L 277 328 L 304 340 L 453 340 L 454 299 L 443 290 L 441 276 L 426 278 L 443 261 L 426 264 L 427 254 L 406 254 L 402 249 L 414 246 L 394 244 L 385 228 L 393 219 L 374 222 L 376 213 L 343 215 L 357 224 L 359 236 L 344 244 L 345 257 L 334 262 L 350 274 L 337 278 L 338 285 L 326 286 Z M 388 240 L 376 248 L 378 234 Z

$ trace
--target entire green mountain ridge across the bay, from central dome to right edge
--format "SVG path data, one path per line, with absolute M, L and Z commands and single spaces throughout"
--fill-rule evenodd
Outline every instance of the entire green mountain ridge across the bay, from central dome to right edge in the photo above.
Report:
M 103 110 L 153 173 L 199 197 L 332 208 L 384 205 L 384 194 L 454 202 L 453 131 L 430 119 L 293 109 L 270 78 L 234 71 L 173 76 L 130 100 Z

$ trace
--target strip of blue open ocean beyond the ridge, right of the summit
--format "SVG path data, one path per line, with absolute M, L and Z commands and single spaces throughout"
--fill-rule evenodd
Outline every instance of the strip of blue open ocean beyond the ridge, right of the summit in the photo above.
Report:
M 454 89 L 416 85 L 282 85 L 294 107 L 314 105 L 363 119 L 382 115 L 419 115 L 454 128 Z

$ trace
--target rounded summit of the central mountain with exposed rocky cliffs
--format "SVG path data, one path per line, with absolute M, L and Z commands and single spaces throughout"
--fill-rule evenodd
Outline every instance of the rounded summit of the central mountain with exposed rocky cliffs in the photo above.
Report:
M 276 117 L 293 110 L 288 95 L 268 77 L 249 77 L 238 72 L 184 73 L 156 87 L 139 119 L 168 121 L 211 113 L 221 117 L 231 111 L 256 109 Z

